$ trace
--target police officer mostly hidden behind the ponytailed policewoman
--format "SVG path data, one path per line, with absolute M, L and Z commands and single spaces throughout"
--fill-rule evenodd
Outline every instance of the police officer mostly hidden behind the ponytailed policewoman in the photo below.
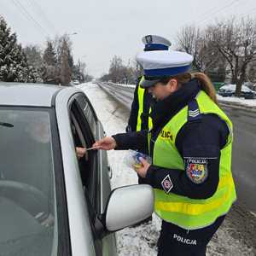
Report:
M 169 40 L 156 35 L 147 35 L 143 37 L 142 41 L 144 51 L 168 50 L 171 46 Z M 148 115 L 150 106 L 152 105 L 152 95 L 148 93 L 148 89 L 144 89 L 140 86 L 142 81 L 143 76 L 138 77 L 133 102 L 131 104 L 130 117 L 126 127 L 127 132 L 143 131 L 152 128 L 152 121 Z M 144 152 L 148 153 L 148 147 L 146 147 Z

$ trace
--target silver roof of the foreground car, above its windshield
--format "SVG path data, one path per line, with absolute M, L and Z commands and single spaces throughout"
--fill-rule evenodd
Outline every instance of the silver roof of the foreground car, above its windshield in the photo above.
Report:
M 0 105 L 51 107 L 55 94 L 65 88 L 71 86 L 0 82 Z

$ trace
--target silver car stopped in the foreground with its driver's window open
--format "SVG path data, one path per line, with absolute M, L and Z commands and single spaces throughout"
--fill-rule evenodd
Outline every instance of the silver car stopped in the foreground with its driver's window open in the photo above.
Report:
M 0 255 L 116 255 L 114 231 L 148 218 L 148 185 L 111 191 L 104 137 L 75 87 L 0 83 Z

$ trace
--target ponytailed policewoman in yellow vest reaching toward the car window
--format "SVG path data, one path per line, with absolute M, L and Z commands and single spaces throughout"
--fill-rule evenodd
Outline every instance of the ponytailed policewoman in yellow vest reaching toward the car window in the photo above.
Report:
M 140 148 L 153 158 L 137 169 L 154 187 L 154 212 L 162 219 L 158 255 L 206 255 L 207 244 L 236 201 L 231 174 L 232 123 L 218 108 L 203 73 L 189 73 L 193 58 L 183 52 L 137 55 L 141 86 L 157 99 L 152 131 L 105 137 L 103 149 Z

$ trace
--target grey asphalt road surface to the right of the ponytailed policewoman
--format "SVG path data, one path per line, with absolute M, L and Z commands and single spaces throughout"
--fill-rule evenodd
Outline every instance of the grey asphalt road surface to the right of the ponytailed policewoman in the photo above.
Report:
M 256 214 L 256 113 L 223 109 L 234 126 L 232 171 L 238 201 Z

